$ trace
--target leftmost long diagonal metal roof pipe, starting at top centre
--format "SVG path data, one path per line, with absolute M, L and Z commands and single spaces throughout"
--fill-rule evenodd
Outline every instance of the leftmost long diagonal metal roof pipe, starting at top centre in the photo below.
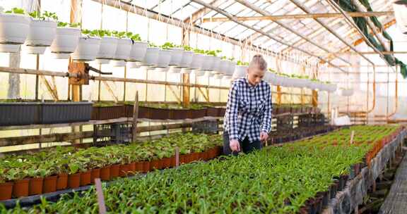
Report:
M 285 42 L 285 41 L 283 41 L 283 40 L 281 40 L 281 39 L 277 39 L 277 38 L 275 38 L 275 37 L 272 37 L 271 34 L 268 34 L 268 33 L 264 32 L 264 31 L 262 31 L 262 30 L 256 29 L 255 27 L 252 27 L 251 25 L 244 24 L 244 23 L 242 23 L 242 22 L 236 20 L 232 15 L 230 15 L 230 13 L 227 13 L 227 12 L 225 12 L 225 11 L 223 11 L 223 10 L 220 10 L 219 8 L 216 8 L 216 7 L 214 7 L 214 6 L 211 6 L 210 4 L 205 3 L 204 1 L 201 1 L 201 0 L 191 0 L 191 1 L 194 1 L 194 2 L 197 3 L 197 4 L 201 4 L 202 6 L 205 6 L 205 7 L 207 7 L 207 8 L 211 8 L 213 11 L 216 11 L 216 12 L 218 12 L 218 13 L 221 13 L 221 14 L 225 15 L 226 17 L 230 18 L 230 20 L 232 20 L 233 22 L 235 22 L 235 23 L 237 23 L 237 24 L 239 24 L 239 25 L 242 25 L 243 27 L 247 27 L 247 28 L 249 28 L 249 29 L 251 29 L 251 30 L 254 30 L 255 32 L 259 32 L 259 33 L 261 33 L 261 34 L 264 34 L 264 36 L 269 37 L 270 39 L 273 39 L 273 40 L 276 41 L 276 42 L 279 42 L 279 43 L 281 43 L 281 44 L 283 44 L 283 45 L 285 45 L 285 46 L 293 47 L 293 49 L 296 49 L 296 50 L 301 51 L 301 52 L 303 52 L 303 53 L 307 53 L 307 55 L 309 55 L 309 56 L 314 56 L 315 58 L 318 58 L 319 60 L 325 62 L 325 60 L 324 60 L 323 58 L 321 58 L 321 57 L 319 57 L 319 56 L 316 56 L 316 55 L 312 54 L 311 52 L 309 52 L 309 51 L 307 51 L 307 50 L 305 50 L 305 49 L 300 49 L 300 48 L 297 47 L 297 46 L 293 46 L 292 44 L 288 44 L 288 42 Z M 337 65 L 334 65 L 334 64 L 332 64 L 331 62 L 326 62 L 326 63 L 329 63 L 329 65 L 334 66 L 334 67 L 338 68 L 339 70 L 343 70 L 342 68 L 339 68 Z M 344 73 L 347 73 L 348 71 L 343 70 L 343 72 L 344 72 Z

